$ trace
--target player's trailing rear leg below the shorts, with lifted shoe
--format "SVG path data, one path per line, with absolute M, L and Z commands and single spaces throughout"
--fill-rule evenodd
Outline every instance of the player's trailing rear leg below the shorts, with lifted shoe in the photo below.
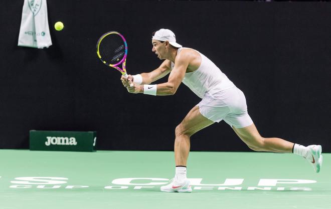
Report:
M 249 148 L 255 151 L 293 152 L 294 154 L 306 158 L 313 166 L 315 172 L 319 172 L 323 161 L 323 156 L 321 155 L 322 148 L 320 145 L 309 145 L 305 147 L 281 138 L 265 138 L 259 134 L 254 123 L 244 128 L 236 128 L 233 126 L 233 130 Z

